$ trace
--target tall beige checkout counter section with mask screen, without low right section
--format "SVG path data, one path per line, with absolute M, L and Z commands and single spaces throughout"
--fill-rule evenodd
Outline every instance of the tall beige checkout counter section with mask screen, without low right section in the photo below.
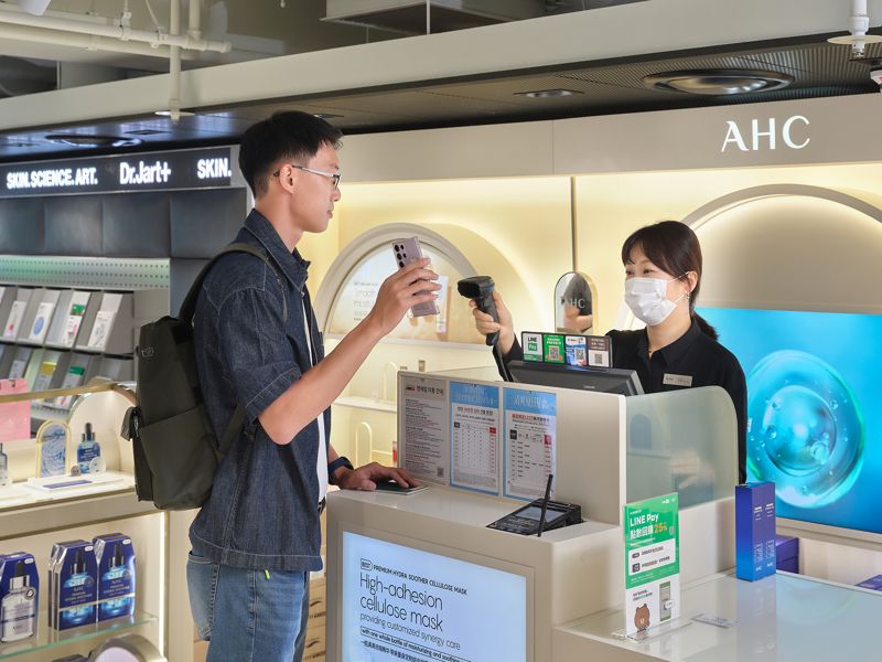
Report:
M 557 627 L 621 605 L 623 505 L 647 496 L 680 492 L 684 584 L 732 567 L 735 429 L 719 387 L 624 397 L 399 373 L 399 463 L 429 488 L 329 494 L 329 660 L 557 659 Z M 582 523 L 487 527 L 549 472 Z

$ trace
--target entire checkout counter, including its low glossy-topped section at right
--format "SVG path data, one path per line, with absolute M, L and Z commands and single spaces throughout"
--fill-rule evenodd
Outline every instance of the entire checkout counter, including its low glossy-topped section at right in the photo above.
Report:
M 329 660 L 878 654 L 873 591 L 730 572 L 736 433 L 723 389 L 624 397 L 502 383 L 482 369 L 399 373 L 398 403 L 399 463 L 429 487 L 329 494 Z M 540 495 L 549 468 L 552 498 L 580 504 L 582 523 L 541 537 L 487 527 Z M 680 495 L 680 618 L 626 637 L 623 506 L 670 492 Z

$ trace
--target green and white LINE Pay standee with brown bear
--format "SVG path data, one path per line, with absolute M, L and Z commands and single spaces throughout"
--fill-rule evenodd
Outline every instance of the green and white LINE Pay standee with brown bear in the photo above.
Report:
M 636 634 L 680 616 L 677 494 L 624 508 L 625 632 Z

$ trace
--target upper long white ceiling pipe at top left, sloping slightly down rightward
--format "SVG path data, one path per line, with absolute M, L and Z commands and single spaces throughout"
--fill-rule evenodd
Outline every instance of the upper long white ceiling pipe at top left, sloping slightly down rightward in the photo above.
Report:
M 194 39 L 189 34 L 164 34 L 162 32 L 150 32 L 148 30 L 132 30 L 125 24 L 88 23 L 86 21 L 54 17 L 34 17 L 12 7 L 4 7 L 0 10 L 0 23 L 106 36 L 118 39 L 123 42 L 143 42 L 154 47 L 163 45 L 180 46 L 189 51 L 212 51 L 216 53 L 228 53 L 232 47 L 228 41 L 209 41 Z

